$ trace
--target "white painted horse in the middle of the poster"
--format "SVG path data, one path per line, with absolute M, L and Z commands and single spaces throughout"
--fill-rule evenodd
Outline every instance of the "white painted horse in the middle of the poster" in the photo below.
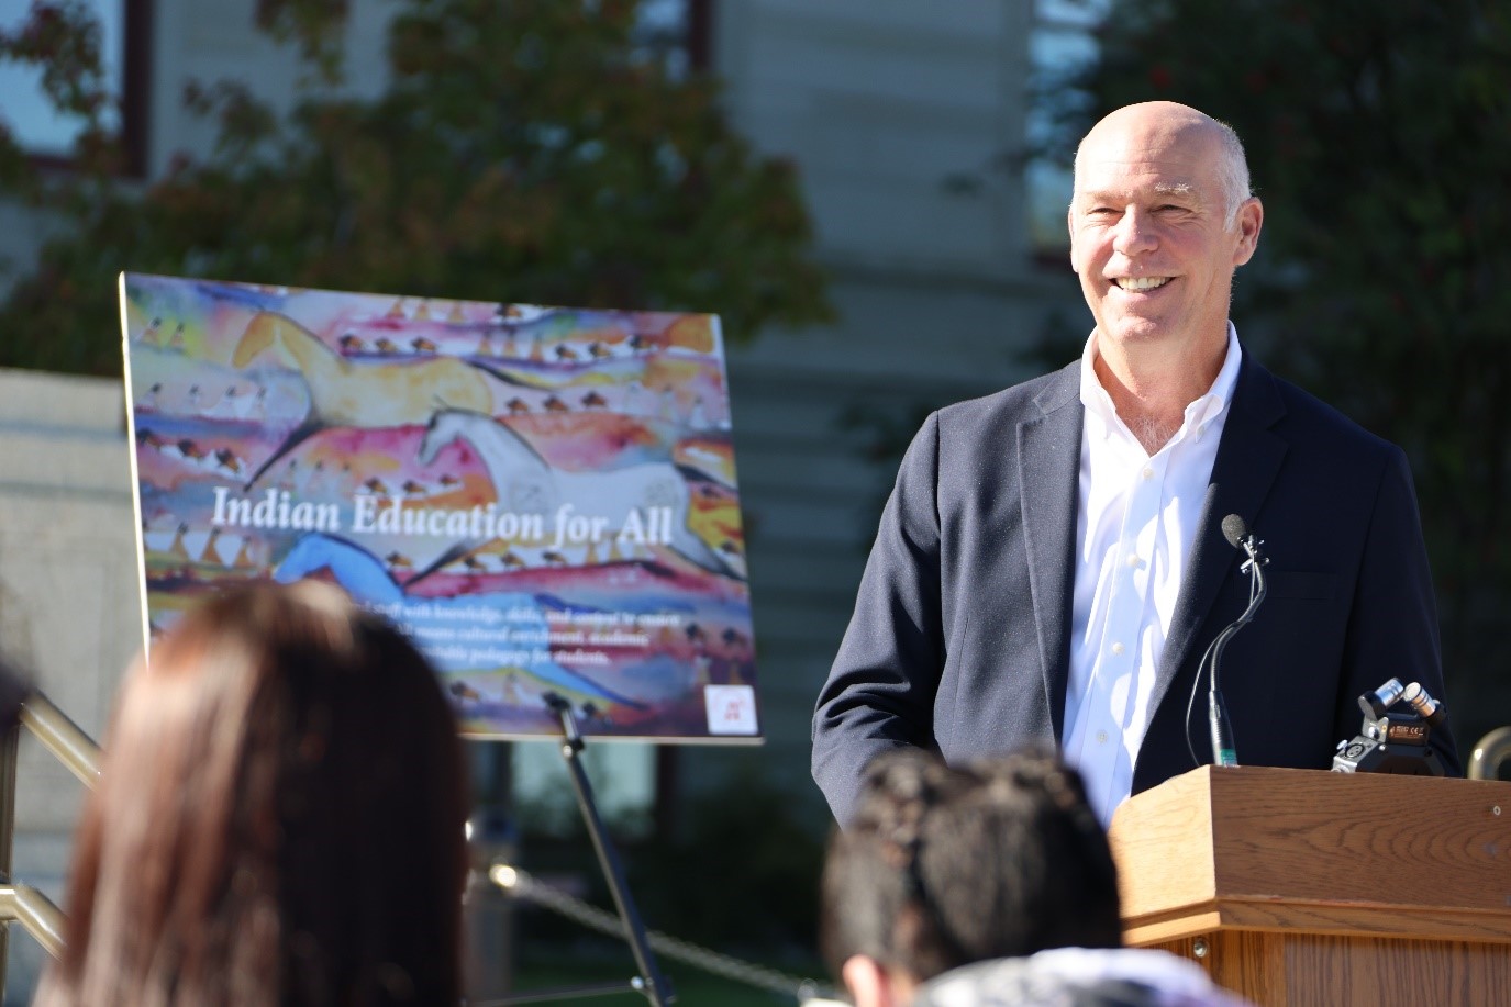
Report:
M 704 569 L 739 577 L 688 527 L 688 480 L 671 462 L 642 462 L 609 473 L 564 473 L 493 417 L 470 409 L 438 409 L 420 441 L 420 463 L 432 463 L 443 447 L 458 439 L 477 451 L 499 506 L 520 515 L 542 515 L 548 534 L 555 515 L 565 504 L 571 504 L 570 513 L 576 515 L 603 515 L 604 506 L 612 503 L 627 509 L 666 507 L 671 510 L 669 545 L 675 553 Z

